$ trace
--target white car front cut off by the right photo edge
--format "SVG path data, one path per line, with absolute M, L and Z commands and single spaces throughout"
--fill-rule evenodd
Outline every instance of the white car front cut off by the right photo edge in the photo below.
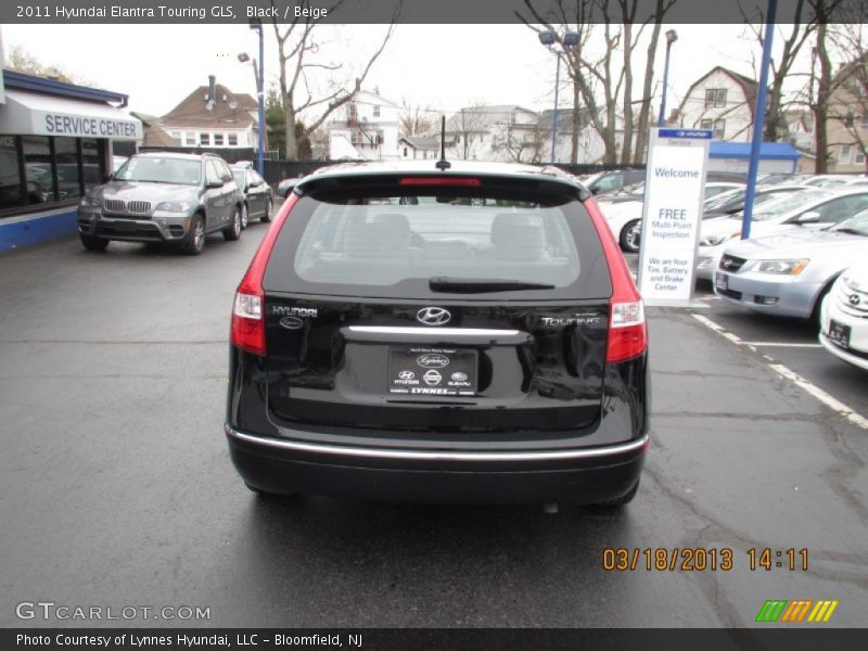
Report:
M 820 328 L 819 340 L 827 350 L 868 370 L 868 264 L 864 260 L 845 270 L 824 298 Z

